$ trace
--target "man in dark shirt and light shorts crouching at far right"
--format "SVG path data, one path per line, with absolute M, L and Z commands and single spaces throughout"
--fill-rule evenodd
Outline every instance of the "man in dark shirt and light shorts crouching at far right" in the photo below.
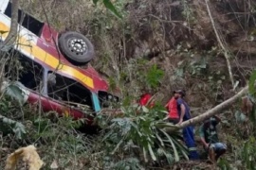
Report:
M 204 148 L 209 153 L 210 161 L 213 163 L 218 161 L 219 157 L 227 150 L 227 145 L 220 143 L 218 139 L 216 126 L 220 121 L 221 119 L 214 115 L 199 128 L 201 142 L 204 144 Z

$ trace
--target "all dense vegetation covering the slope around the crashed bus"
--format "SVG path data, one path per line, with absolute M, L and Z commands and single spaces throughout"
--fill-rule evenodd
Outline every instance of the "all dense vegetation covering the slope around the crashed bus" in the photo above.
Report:
M 173 126 L 163 121 L 162 106 L 172 90 L 184 88 L 196 116 L 237 93 L 249 76 L 255 80 L 256 3 L 119 0 L 113 1 L 114 8 L 107 1 L 96 2 L 33 0 L 21 6 L 59 31 L 82 32 L 95 44 L 97 58 L 90 64 L 112 89 L 120 88 L 122 101 L 115 107 L 124 115 L 100 113 L 95 121 L 101 131 L 87 135 L 76 130 L 82 120 L 43 114 L 1 95 L 1 169 L 10 152 L 27 144 L 36 144 L 44 169 L 212 168 L 200 143 L 202 161 L 187 161 L 179 132 L 165 131 Z M 155 109 L 133 104 L 142 91 L 155 94 Z M 8 93 L 19 101 L 15 86 Z M 220 138 L 228 153 L 217 166 L 255 169 L 255 117 L 248 120 L 240 102 L 219 114 Z

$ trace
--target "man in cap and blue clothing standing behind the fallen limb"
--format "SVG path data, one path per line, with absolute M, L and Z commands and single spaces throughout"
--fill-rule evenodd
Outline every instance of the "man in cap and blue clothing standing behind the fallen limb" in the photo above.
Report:
M 177 98 L 177 110 L 179 113 L 179 121 L 178 124 L 181 124 L 183 121 L 187 121 L 191 119 L 191 110 L 189 105 L 184 101 L 184 96 L 186 95 L 185 91 L 182 90 L 177 90 L 174 91 L 175 95 L 178 96 Z M 184 138 L 184 142 L 189 148 L 190 155 L 189 158 L 190 160 L 197 160 L 198 153 L 196 151 L 195 143 L 194 143 L 194 138 L 193 138 L 193 127 L 185 127 L 182 129 L 182 134 Z

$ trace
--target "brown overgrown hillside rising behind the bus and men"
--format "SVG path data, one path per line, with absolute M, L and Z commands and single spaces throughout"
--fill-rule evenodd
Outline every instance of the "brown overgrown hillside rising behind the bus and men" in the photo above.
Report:
M 145 88 L 166 102 L 170 92 L 182 86 L 197 108 L 211 107 L 233 94 L 225 53 L 234 84 L 245 86 L 256 64 L 255 4 L 252 0 L 210 1 L 209 11 L 200 0 L 120 0 L 115 3 L 123 15 L 119 20 L 101 4 L 43 3 L 51 26 L 80 31 L 95 44 L 98 55 L 92 64 L 119 85 L 124 96 L 137 97 Z M 38 1 L 28 7 L 27 11 L 46 21 Z M 144 87 L 147 83 L 141 75 L 153 64 L 165 76 L 157 88 Z M 134 88 L 126 92 L 126 87 Z

